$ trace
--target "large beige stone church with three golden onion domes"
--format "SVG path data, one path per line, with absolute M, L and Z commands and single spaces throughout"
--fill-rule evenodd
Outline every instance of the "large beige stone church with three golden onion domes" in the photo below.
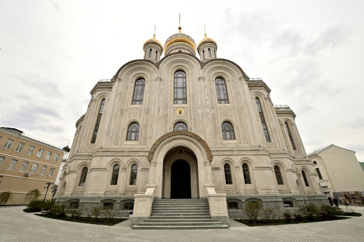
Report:
M 129 211 L 135 228 L 182 207 L 229 225 L 247 202 L 326 202 L 295 113 L 272 104 L 262 79 L 217 58 L 214 39 L 196 45 L 179 27 L 143 51 L 91 90 L 56 202 Z

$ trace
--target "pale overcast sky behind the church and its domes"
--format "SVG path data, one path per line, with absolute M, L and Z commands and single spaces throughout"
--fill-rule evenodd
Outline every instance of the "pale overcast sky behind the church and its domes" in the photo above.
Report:
M 72 142 L 99 79 L 143 44 L 203 26 L 218 58 L 262 78 L 288 105 L 307 153 L 330 144 L 364 161 L 364 1 L 0 0 L 0 126 Z

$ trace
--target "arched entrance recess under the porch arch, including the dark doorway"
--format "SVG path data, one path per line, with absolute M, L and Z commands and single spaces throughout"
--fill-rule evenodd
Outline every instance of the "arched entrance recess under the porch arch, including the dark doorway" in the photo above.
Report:
M 199 197 L 197 158 L 193 151 L 172 148 L 163 163 L 163 198 Z

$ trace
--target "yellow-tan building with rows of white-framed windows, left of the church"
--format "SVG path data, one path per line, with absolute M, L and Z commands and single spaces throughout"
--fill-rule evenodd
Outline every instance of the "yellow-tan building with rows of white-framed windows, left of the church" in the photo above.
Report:
M 38 189 L 42 199 L 50 199 L 65 153 L 60 148 L 24 136 L 20 130 L 1 127 L 0 193 L 10 191 L 13 195 L 6 204 L 26 204 L 25 195 L 32 189 Z

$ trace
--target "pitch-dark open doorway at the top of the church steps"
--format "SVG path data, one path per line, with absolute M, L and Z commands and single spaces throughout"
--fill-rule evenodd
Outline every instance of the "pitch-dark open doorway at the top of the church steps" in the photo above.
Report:
M 186 161 L 177 160 L 172 164 L 171 198 L 191 198 L 191 171 Z

